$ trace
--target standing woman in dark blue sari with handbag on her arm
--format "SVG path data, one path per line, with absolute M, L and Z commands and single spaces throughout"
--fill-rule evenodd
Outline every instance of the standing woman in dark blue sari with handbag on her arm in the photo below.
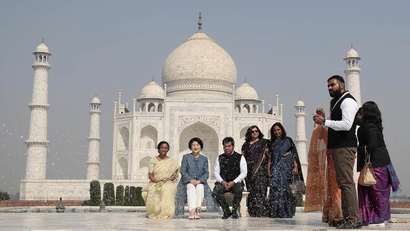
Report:
M 289 190 L 293 179 L 303 181 L 298 151 L 281 123 L 271 128 L 271 144 L 269 150 L 272 163 L 268 171 L 271 173 L 269 206 L 271 218 L 292 218 L 295 216 L 296 200 Z M 272 169 L 272 172 L 271 172 Z

